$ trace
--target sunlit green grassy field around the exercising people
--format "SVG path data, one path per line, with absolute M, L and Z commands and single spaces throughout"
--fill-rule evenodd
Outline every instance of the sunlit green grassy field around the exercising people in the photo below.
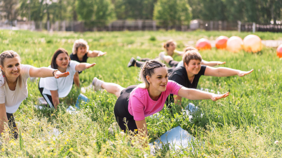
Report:
M 174 39 L 177 49 L 199 38 L 215 40 L 220 35 L 240 36 L 249 32 L 29 32 L 0 30 L 1 52 L 12 49 L 21 56 L 23 64 L 36 67 L 48 66 L 56 49 L 62 47 L 71 53 L 73 42 L 84 38 L 91 50 L 108 52 L 98 58 L 93 68 L 80 74 L 81 86 L 87 87 L 94 77 L 106 82 L 114 82 L 123 87 L 138 84 L 138 69 L 127 68 L 131 57 L 155 58 L 163 42 Z M 282 39 L 281 33 L 257 32 L 262 40 Z M 193 45 L 193 44 L 192 44 Z M 195 44 L 193 45 L 195 46 Z M 91 101 L 83 105 L 76 115 L 66 112 L 74 105 L 80 93 L 73 87 L 70 94 L 62 99 L 58 110 L 38 110 L 41 97 L 37 82 L 28 81 L 28 98 L 22 102 L 14 116 L 21 137 L 18 140 L 3 140 L 1 157 L 281 157 L 282 145 L 282 69 L 281 60 L 276 56 L 276 48 L 263 47 L 256 54 L 240 51 L 230 53 L 225 50 L 200 52 L 207 61 L 226 61 L 228 68 L 251 70 L 251 74 L 238 77 L 202 76 L 198 88 L 208 88 L 230 96 L 217 102 L 210 100 L 191 101 L 182 99 L 185 107 L 192 102 L 200 110 L 189 121 L 183 111 L 165 107 L 157 118 L 146 118 L 149 138 L 124 136 L 119 130 L 108 132 L 115 124 L 113 107 L 115 95 L 106 91 L 87 90 Z M 176 60 L 181 60 L 177 57 Z M 203 116 L 201 117 L 201 113 Z M 195 151 L 169 151 L 166 147 L 150 155 L 152 142 L 167 130 L 181 126 L 196 140 L 205 144 L 194 144 Z M 52 134 L 56 128 L 61 132 Z M 275 144 L 275 141 L 278 144 Z

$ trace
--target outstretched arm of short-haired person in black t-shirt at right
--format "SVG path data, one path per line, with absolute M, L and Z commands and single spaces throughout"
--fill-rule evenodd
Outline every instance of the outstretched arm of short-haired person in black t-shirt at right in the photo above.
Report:
M 217 77 L 226 77 L 226 76 L 235 76 L 238 75 L 240 77 L 243 77 L 251 72 L 253 72 L 254 69 L 250 71 L 241 71 L 241 70 L 236 70 L 236 69 L 231 69 L 231 68 L 225 68 L 225 67 L 218 67 L 218 68 L 213 68 L 210 66 L 206 67 L 205 70 L 205 76 L 217 76 Z

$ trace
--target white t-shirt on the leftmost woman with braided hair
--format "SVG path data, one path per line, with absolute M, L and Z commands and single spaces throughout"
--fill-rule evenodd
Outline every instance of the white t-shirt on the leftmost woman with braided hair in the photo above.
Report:
M 20 87 L 17 81 L 16 89 L 10 90 L 7 82 L 5 82 L 2 73 L 0 73 L 0 104 L 5 103 L 6 112 L 14 113 L 19 108 L 20 104 L 28 95 L 27 91 L 27 79 L 29 76 L 29 70 L 31 65 L 21 64 L 21 75 L 22 75 L 22 85 Z

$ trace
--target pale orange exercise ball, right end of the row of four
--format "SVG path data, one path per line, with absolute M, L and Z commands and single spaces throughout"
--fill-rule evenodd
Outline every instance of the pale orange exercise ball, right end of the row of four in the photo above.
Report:
M 243 48 L 247 52 L 256 53 L 262 50 L 262 40 L 259 36 L 250 34 L 243 39 Z

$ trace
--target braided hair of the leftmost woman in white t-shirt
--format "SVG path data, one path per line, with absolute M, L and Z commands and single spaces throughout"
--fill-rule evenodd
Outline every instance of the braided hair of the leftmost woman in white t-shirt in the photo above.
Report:
M 1 54 L 0 54 L 0 65 L 2 67 L 4 67 L 4 61 L 6 58 L 14 58 L 14 57 L 18 57 L 20 59 L 20 55 L 18 55 L 18 53 L 16 53 L 15 51 L 12 51 L 12 50 L 7 50 L 7 51 L 3 51 Z M 7 80 L 7 76 L 5 75 L 5 72 L 1 69 L 1 75 L 5 78 L 5 82 L 9 82 Z M 19 75 L 19 85 L 21 86 L 22 84 L 22 75 L 20 74 Z

